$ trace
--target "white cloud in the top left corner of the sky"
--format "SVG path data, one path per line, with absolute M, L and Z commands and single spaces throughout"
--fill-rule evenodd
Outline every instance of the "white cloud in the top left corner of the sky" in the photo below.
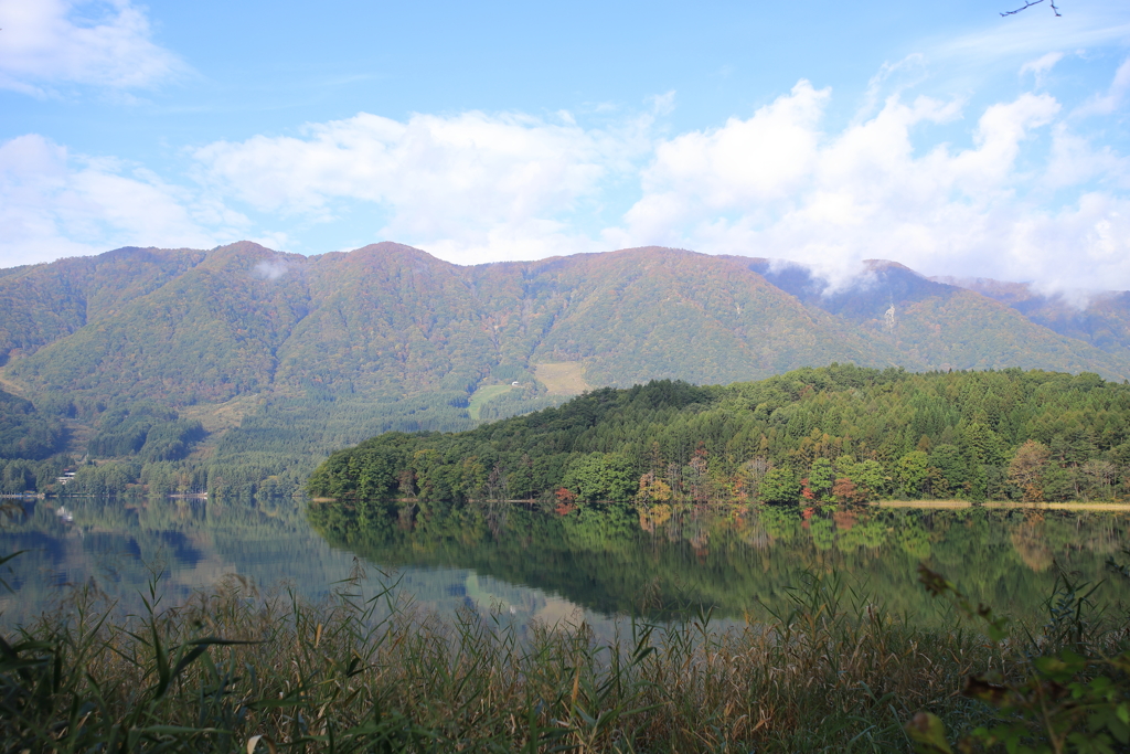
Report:
M 149 86 L 185 70 L 129 0 L 0 0 L 0 87 Z

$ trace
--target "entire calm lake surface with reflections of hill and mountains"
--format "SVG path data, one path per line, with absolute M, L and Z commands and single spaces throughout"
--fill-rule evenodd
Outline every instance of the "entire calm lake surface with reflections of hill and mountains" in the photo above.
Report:
M 0 623 L 42 613 L 79 584 L 140 608 L 154 571 L 165 604 L 237 574 L 263 590 L 325 598 L 355 557 L 370 592 L 395 583 L 427 610 L 470 607 L 507 621 L 664 619 L 713 607 L 727 622 L 781 608 L 803 574 L 840 573 L 869 601 L 921 621 L 946 619 L 918 584 L 920 563 L 1014 617 L 1040 619 L 1057 564 L 1086 581 L 1127 556 L 1130 514 L 1036 510 L 861 510 L 827 506 L 670 511 L 629 506 L 554 511 L 496 506 L 389 511 L 380 504 L 293 500 L 55 501 L 25 506 L 0 529 L 0 553 L 27 551 L 0 578 Z M 1130 589 L 1111 580 L 1101 596 Z

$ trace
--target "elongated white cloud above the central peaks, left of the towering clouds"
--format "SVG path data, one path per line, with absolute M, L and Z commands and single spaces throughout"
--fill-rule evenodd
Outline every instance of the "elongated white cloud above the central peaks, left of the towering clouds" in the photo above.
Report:
M 195 158 L 201 180 L 260 210 L 330 220 L 336 201 L 362 200 L 386 214 L 382 237 L 453 261 L 528 259 L 590 243 L 566 220 L 631 174 L 650 147 L 650 123 L 600 131 L 572 118 L 360 113 L 298 138 L 211 144 Z

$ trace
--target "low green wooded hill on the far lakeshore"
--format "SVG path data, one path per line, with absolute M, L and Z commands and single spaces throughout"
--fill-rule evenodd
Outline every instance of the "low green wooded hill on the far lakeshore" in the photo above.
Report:
M 702 388 L 653 381 L 461 433 L 333 453 L 314 496 L 801 501 L 1112 500 L 1130 492 L 1130 385 L 1096 374 L 833 364 Z

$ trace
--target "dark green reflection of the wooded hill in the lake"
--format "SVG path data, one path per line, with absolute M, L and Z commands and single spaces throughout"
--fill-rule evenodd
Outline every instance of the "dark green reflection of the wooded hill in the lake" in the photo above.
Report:
M 1036 609 L 1054 579 L 1051 560 L 1103 578 L 1127 545 L 1120 513 L 867 508 L 745 514 L 623 505 L 567 515 L 520 508 L 425 510 L 415 519 L 382 503 L 312 505 L 308 518 L 337 547 L 386 566 L 472 569 L 557 593 L 600 613 L 714 605 L 727 616 L 779 605 L 803 570 L 847 571 L 896 613 L 935 609 L 916 581 L 927 563 L 976 599 L 1014 615 Z

